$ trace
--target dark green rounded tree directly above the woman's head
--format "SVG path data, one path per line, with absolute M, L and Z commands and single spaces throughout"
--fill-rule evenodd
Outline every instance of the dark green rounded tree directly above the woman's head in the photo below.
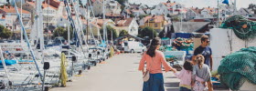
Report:
M 149 38 L 153 39 L 153 35 L 154 37 L 156 36 L 155 29 L 149 26 L 144 27 L 141 32 L 142 32 L 141 37 L 149 36 Z

